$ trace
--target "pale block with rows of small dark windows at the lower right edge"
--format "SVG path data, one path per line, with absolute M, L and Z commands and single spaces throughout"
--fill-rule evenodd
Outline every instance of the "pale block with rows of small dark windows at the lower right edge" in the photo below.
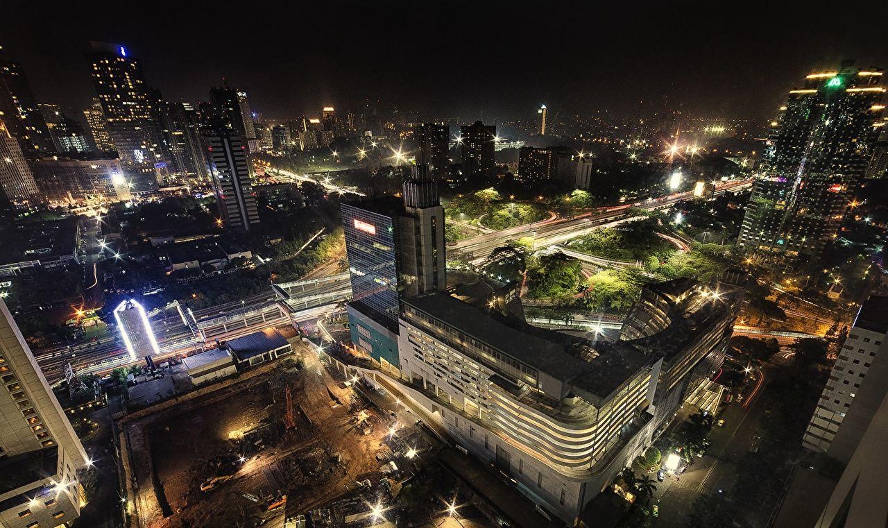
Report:
M 870 366 L 880 355 L 888 356 L 882 346 L 883 343 L 888 344 L 886 335 L 888 297 L 871 296 L 860 306 L 857 319 L 839 351 L 829 374 L 829 382 L 805 430 L 802 439 L 805 447 L 815 452 L 829 453 L 844 463 L 850 460 L 854 446 L 860 441 L 860 434 L 867 428 L 865 422 L 846 422 L 846 416 L 858 405 L 856 397 L 860 387 L 864 384 L 877 385 L 883 395 L 888 390 L 888 379 L 868 375 Z M 888 362 L 888 357 L 879 361 Z M 868 422 L 872 414 L 859 415 L 859 418 Z

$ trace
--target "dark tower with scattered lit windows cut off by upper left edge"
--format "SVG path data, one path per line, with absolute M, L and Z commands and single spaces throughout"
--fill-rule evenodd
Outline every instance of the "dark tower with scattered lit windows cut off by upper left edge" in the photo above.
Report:
M 52 155 L 50 131 L 40 113 L 21 65 L 10 59 L 0 46 L 0 121 L 19 140 L 28 158 Z

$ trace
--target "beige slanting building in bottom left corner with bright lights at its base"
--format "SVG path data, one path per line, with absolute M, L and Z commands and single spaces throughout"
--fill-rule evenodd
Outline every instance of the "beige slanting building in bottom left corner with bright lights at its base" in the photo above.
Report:
M 0 380 L 0 525 L 70 525 L 91 461 L 2 300 Z

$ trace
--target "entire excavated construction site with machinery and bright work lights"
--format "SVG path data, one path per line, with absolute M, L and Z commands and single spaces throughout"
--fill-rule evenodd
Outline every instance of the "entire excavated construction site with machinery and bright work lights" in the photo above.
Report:
M 431 431 L 380 406 L 357 379 L 331 375 L 314 346 L 119 418 L 129 525 L 301 528 L 385 524 L 413 510 L 448 516 L 456 495 L 428 493 L 456 486 L 433 464 Z

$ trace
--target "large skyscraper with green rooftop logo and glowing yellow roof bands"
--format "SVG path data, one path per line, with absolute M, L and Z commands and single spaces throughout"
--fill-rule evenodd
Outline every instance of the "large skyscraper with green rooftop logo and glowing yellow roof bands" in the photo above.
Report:
M 789 91 L 772 124 L 737 245 L 763 255 L 816 258 L 842 222 L 876 140 L 882 71 L 815 73 Z M 880 125 L 881 126 L 881 125 Z

